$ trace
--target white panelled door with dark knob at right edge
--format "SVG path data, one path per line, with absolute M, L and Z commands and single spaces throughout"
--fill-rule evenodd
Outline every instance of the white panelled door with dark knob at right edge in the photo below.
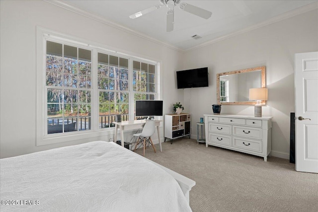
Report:
M 296 171 L 318 173 L 318 52 L 295 55 Z

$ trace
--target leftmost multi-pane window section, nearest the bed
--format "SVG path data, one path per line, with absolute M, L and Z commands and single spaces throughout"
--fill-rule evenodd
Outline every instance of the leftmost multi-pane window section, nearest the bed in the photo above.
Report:
M 90 130 L 91 51 L 46 42 L 47 134 Z

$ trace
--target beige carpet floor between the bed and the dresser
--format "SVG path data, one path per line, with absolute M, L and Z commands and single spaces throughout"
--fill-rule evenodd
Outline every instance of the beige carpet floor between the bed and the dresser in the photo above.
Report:
M 295 171 L 295 164 L 205 147 L 193 139 L 147 147 L 145 156 L 196 182 L 193 212 L 318 212 L 318 174 Z M 142 154 L 142 149 L 136 150 Z

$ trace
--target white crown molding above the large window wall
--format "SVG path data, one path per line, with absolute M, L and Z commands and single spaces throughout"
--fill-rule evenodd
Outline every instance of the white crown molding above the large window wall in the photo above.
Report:
M 150 36 L 148 36 L 148 35 L 145 35 L 145 34 L 143 34 L 143 33 L 138 32 L 138 31 L 132 30 L 132 29 L 130 29 L 130 28 L 128 28 L 128 27 L 125 27 L 125 26 L 123 26 L 123 25 L 120 25 L 120 24 L 118 24 L 118 23 L 115 23 L 115 22 L 113 22 L 113 21 L 110 21 L 110 20 L 108 20 L 108 19 L 106 19 L 106 18 L 103 18 L 103 17 L 101 17 L 100 15 L 97 15 L 97 14 L 94 14 L 94 13 L 87 12 L 87 11 L 85 11 L 85 10 L 82 10 L 82 9 L 80 9 L 80 8 L 74 6 L 74 5 L 71 5 L 71 4 L 69 4 L 69 3 L 67 3 L 67 2 L 65 2 L 65 1 L 63 1 L 63 0 L 43 0 L 43 1 L 48 2 L 48 3 L 51 3 L 51 4 L 54 4 L 54 5 L 59 6 L 59 7 L 62 7 L 62 8 L 64 8 L 64 9 L 69 10 L 69 11 L 78 13 L 79 15 L 83 15 L 83 16 L 85 16 L 85 17 L 91 18 L 91 19 L 93 19 L 93 20 L 96 20 L 96 21 L 101 22 L 101 23 L 103 23 L 103 24 L 106 24 L 106 25 L 108 25 L 108 26 L 111 26 L 111 27 L 114 27 L 114 28 L 116 28 L 116 29 L 125 31 L 125 32 L 130 33 L 130 34 L 133 34 L 133 35 L 135 35 L 135 36 L 141 37 L 141 38 L 143 38 L 143 39 L 147 39 L 147 40 L 149 40 L 149 41 L 151 41 L 151 42 L 154 42 L 154 43 L 157 43 L 157 44 L 159 44 L 159 45 L 163 45 L 163 46 L 165 46 L 165 47 L 167 47 L 167 48 L 170 48 L 170 49 L 173 49 L 173 50 L 175 50 L 175 51 L 184 53 L 184 50 L 182 50 L 182 49 L 180 49 L 180 48 L 177 48 L 177 47 L 175 47 L 175 46 L 173 46 L 173 45 L 171 45 L 171 44 L 169 44 L 169 43 L 160 41 L 160 40 L 158 40 L 158 39 L 155 39 L 155 38 L 153 38 L 153 37 L 150 37 Z

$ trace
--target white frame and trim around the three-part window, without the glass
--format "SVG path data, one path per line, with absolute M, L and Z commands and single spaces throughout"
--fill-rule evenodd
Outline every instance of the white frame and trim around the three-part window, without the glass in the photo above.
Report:
M 36 145 L 46 145 L 52 143 L 60 143 L 66 141 L 78 141 L 89 138 L 97 138 L 101 136 L 112 135 L 113 128 L 101 128 L 99 129 L 99 104 L 96 99 L 99 98 L 99 89 L 97 87 L 97 52 L 108 55 L 113 55 L 129 60 L 129 91 L 123 91 L 129 93 L 129 120 L 134 120 L 134 92 L 133 92 L 133 60 L 141 61 L 156 66 L 156 99 L 162 100 L 161 97 L 161 74 L 160 74 L 160 63 L 152 60 L 147 60 L 135 56 L 130 56 L 117 51 L 108 50 L 101 44 L 88 44 L 91 42 L 83 41 L 82 39 L 75 38 L 73 36 L 67 36 L 58 32 L 54 32 L 49 29 L 37 27 L 36 31 L 36 42 L 37 42 L 37 103 L 36 103 Z M 91 80 L 92 80 L 92 91 L 91 91 L 91 129 L 84 131 L 58 133 L 58 134 L 47 134 L 47 92 L 46 92 L 46 41 L 53 41 L 57 43 L 63 43 L 70 46 L 76 46 L 92 51 L 91 57 Z M 107 49 L 106 49 L 107 48 Z M 59 87 L 57 87 L 58 89 Z M 158 117 L 162 119 L 162 117 Z

